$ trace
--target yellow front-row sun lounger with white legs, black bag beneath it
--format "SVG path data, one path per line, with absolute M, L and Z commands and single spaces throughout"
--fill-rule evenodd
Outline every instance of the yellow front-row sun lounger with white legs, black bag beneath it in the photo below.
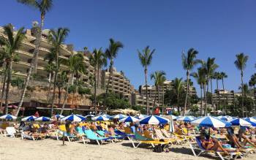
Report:
M 133 142 L 133 140 L 136 140 L 138 141 L 138 144 L 135 145 L 135 142 Z M 170 142 L 166 142 L 166 141 L 160 141 L 160 140 L 153 140 L 151 138 L 147 138 L 147 137 L 144 137 L 143 135 L 139 134 L 138 132 L 135 132 L 135 137 L 133 137 L 132 139 L 130 139 L 130 142 L 132 142 L 132 146 L 134 148 L 138 148 L 138 146 L 142 143 L 144 144 L 148 144 L 148 145 L 151 145 L 153 148 L 155 145 L 164 145 L 163 147 L 166 148 L 167 145 L 170 144 Z

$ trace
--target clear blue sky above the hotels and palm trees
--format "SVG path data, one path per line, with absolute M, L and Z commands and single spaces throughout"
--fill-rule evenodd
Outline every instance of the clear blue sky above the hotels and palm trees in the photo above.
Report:
M 144 83 L 138 49 L 156 49 L 148 72 L 164 70 L 167 79 L 184 77 L 181 51 L 195 47 L 198 58 L 215 57 L 218 71 L 228 75 L 225 85 L 237 91 L 240 73 L 234 66 L 236 54 L 249 56 L 244 81 L 255 72 L 256 1 L 254 0 L 55 0 L 45 19 L 45 28 L 68 27 L 67 43 L 83 47 L 108 47 L 108 39 L 124 43 L 115 59 L 135 88 Z M 0 25 L 31 27 L 39 20 L 36 9 L 1 0 Z M 150 81 L 151 84 L 153 84 Z M 198 88 L 198 85 L 195 84 Z M 214 82 L 215 87 L 215 82 Z

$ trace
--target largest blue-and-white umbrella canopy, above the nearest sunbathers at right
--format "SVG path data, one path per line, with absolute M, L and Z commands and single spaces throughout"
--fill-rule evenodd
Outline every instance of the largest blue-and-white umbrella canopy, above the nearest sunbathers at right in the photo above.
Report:
M 229 127 L 230 123 L 227 121 L 223 121 L 219 118 L 215 118 L 212 116 L 206 116 L 201 118 L 195 118 L 195 120 L 191 121 L 192 125 L 195 126 L 209 126 L 209 127 Z

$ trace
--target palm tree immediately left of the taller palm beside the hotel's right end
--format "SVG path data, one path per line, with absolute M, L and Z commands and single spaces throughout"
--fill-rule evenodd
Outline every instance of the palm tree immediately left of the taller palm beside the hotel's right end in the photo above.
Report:
M 94 49 L 93 53 L 89 56 L 89 61 L 90 64 L 94 66 L 94 113 L 96 114 L 96 94 L 97 87 L 99 88 L 99 69 L 102 68 L 102 66 L 107 66 L 107 58 L 102 52 L 101 47 L 99 50 Z

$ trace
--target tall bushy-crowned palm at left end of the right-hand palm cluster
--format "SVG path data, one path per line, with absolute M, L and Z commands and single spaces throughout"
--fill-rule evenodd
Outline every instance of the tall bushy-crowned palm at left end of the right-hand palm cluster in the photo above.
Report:
M 184 110 L 183 115 L 186 114 L 187 110 L 187 97 L 189 96 L 189 72 L 195 67 L 195 65 L 199 62 L 197 58 L 197 50 L 194 48 L 190 48 L 187 51 L 187 55 L 185 53 L 182 53 L 181 59 L 182 59 L 182 66 L 187 71 L 187 93 L 186 93 L 186 99 L 184 104 Z

